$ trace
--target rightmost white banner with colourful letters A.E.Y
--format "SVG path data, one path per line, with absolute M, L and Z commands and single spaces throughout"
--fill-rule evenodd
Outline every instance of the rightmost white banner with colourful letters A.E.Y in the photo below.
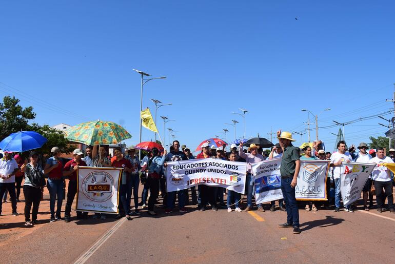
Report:
M 343 163 L 340 175 L 340 192 L 342 193 L 343 205 L 348 206 L 361 198 L 362 189 L 374 164 L 366 163 Z

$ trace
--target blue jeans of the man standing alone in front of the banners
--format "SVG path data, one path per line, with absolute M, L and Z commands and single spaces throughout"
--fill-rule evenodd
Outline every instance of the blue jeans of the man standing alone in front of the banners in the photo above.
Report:
M 287 222 L 289 225 L 299 227 L 299 209 L 295 198 L 295 188 L 291 187 L 292 176 L 281 178 L 281 191 L 283 192 L 285 208 L 287 210 Z

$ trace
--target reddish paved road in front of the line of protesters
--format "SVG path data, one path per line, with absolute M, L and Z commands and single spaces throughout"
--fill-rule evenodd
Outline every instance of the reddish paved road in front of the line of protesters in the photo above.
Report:
M 395 257 L 395 215 L 300 210 L 301 230 L 280 229 L 286 213 L 175 210 L 133 220 L 57 221 L 2 245 L 2 259 L 75 262 L 95 245 L 86 263 L 103 262 L 379 262 Z M 116 225 L 117 229 L 112 228 Z M 4 227 L 4 226 L 3 226 Z M 103 236 L 109 231 L 110 236 Z M 97 241 L 101 241 L 99 245 Z M 4 250 L 7 249 L 7 250 Z M 18 258 L 15 258 L 15 256 Z

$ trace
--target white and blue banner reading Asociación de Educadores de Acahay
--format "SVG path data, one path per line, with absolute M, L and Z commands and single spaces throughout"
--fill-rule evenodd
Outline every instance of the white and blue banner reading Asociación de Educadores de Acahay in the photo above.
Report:
M 259 163 L 251 164 L 251 177 L 254 178 L 255 201 L 257 205 L 283 198 L 280 164 L 281 158 L 266 159 Z

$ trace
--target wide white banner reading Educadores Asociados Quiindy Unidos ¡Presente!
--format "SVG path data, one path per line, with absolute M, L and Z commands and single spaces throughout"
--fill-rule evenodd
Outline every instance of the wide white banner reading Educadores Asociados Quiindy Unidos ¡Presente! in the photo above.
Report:
M 167 163 L 166 186 L 168 192 L 188 189 L 196 185 L 224 187 L 243 193 L 246 181 L 245 163 L 204 158 Z

